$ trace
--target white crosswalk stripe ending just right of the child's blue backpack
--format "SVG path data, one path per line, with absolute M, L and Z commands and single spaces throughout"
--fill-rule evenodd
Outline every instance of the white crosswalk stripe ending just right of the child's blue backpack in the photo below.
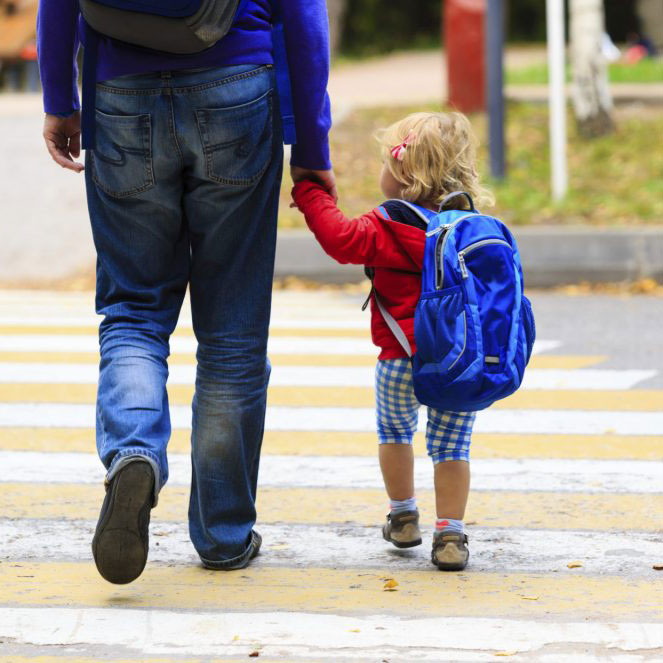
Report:
M 535 354 L 560 345 L 559 341 L 537 341 Z M 197 341 L 192 336 L 174 336 L 171 352 L 195 354 Z M 272 354 L 355 354 L 377 357 L 377 348 L 366 338 L 315 336 L 272 336 L 268 350 Z M 1 334 L 0 352 L 98 352 L 96 336 L 89 334 Z

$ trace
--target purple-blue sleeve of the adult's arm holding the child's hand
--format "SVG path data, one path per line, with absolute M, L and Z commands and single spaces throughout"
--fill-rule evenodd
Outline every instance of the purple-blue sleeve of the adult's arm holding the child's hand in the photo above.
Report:
M 329 21 L 325 0 L 279 0 L 295 111 L 297 144 L 291 166 L 331 169 L 329 129 Z

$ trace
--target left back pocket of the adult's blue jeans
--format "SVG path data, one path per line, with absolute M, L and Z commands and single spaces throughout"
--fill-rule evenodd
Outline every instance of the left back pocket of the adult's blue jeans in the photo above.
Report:
M 92 179 L 109 196 L 126 198 L 154 186 L 152 122 L 149 114 L 108 115 L 96 111 Z

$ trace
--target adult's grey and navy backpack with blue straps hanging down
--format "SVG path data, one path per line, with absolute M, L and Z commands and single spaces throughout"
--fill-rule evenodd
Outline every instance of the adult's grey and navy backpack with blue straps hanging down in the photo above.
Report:
M 246 0 L 79 0 L 85 20 L 83 147 L 94 148 L 94 106 L 99 37 L 176 55 L 195 55 L 228 34 Z M 279 0 L 272 0 L 276 82 L 284 141 L 296 142 L 290 77 Z M 139 57 L 138 54 L 137 57 Z

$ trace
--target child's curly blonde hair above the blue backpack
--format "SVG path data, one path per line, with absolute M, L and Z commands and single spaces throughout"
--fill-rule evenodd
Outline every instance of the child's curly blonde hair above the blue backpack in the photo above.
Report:
M 440 205 L 452 191 L 467 191 L 477 206 L 494 204 L 492 194 L 479 184 L 478 141 L 463 114 L 413 113 L 379 131 L 377 139 L 384 163 L 404 187 L 403 199 Z M 399 160 L 392 150 L 406 139 Z

